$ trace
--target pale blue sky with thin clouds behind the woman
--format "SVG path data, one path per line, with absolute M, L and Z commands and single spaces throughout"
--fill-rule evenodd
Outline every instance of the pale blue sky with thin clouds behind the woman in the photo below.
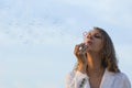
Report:
M 0 88 L 64 88 L 92 26 L 109 33 L 132 82 L 131 9 L 131 0 L 0 0 Z

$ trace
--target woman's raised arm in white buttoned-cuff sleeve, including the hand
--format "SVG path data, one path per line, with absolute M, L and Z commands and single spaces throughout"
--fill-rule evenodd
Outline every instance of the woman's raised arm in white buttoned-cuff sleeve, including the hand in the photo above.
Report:
M 79 50 L 81 47 L 81 50 Z M 86 50 L 87 45 L 81 43 L 75 46 L 74 54 L 77 58 L 78 67 L 77 70 L 69 73 L 66 76 L 66 88 L 89 88 L 87 87 L 88 77 L 86 75 L 87 57 Z

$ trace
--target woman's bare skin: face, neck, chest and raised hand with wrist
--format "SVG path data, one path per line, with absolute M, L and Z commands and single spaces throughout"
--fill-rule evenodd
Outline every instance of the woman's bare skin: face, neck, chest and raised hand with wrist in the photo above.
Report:
M 79 50 L 81 47 L 81 50 Z M 101 67 L 101 57 L 99 55 L 102 48 L 101 33 L 97 30 L 90 31 L 85 42 L 75 46 L 75 55 L 79 63 L 77 70 L 87 74 L 89 77 L 90 88 L 99 88 L 105 73 Z

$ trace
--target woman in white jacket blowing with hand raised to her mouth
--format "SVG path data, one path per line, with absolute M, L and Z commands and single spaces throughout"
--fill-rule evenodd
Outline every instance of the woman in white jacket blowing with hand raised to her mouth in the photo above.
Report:
M 105 30 L 94 28 L 86 33 L 74 53 L 77 65 L 66 76 L 66 88 L 131 88 L 117 65 L 112 41 Z

